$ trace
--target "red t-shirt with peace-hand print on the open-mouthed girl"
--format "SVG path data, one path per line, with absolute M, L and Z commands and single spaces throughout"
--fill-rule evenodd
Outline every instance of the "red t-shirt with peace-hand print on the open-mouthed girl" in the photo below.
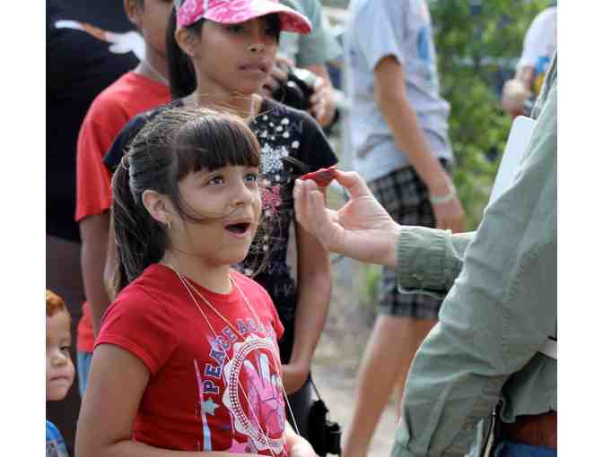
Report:
M 182 451 L 287 454 L 277 343 L 283 325 L 265 289 L 237 272 L 232 278 L 261 322 L 237 288 L 217 294 L 191 280 L 234 329 L 195 296 L 199 311 L 176 273 L 161 264 L 120 292 L 103 316 L 95 347 L 118 345 L 151 372 L 135 417 L 136 441 Z

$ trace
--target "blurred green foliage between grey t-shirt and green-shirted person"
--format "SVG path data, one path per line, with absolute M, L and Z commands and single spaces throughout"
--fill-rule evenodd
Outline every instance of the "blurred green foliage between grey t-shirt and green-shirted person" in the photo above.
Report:
M 500 108 L 530 22 L 547 0 L 430 1 L 441 95 L 450 102 L 454 182 L 476 229 L 494 183 L 511 118 Z

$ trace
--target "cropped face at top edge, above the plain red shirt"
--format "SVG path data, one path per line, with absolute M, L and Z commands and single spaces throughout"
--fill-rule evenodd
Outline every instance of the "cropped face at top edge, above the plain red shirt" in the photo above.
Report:
M 135 4 L 130 16 L 130 20 L 143 34 L 146 47 L 151 47 L 152 52 L 163 58 L 166 58 L 165 30 L 173 5 L 172 0 L 144 0 L 144 4 Z

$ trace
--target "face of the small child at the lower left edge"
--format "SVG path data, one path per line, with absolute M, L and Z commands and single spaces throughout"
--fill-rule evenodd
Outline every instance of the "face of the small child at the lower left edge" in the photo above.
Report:
M 46 317 L 46 400 L 63 400 L 74 383 L 69 315 L 59 311 Z

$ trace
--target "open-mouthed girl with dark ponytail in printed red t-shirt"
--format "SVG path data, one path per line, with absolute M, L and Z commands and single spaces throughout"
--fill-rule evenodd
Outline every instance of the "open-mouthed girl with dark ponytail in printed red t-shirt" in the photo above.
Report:
M 285 429 L 275 306 L 231 269 L 258 228 L 259 162 L 245 122 L 208 109 L 163 110 L 131 142 L 77 455 L 314 455 Z

